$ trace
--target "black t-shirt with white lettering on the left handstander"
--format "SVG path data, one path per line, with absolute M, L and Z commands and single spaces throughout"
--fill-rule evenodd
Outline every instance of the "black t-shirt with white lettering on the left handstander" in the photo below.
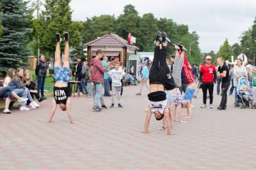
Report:
M 68 87 L 54 87 L 53 96 L 57 104 L 67 103 L 68 97 L 70 97 L 70 89 Z

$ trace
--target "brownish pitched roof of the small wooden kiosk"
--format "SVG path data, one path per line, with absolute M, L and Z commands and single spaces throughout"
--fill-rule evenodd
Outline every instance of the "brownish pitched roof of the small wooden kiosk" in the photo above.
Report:
M 128 41 L 124 38 L 116 34 L 106 34 L 100 38 L 94 39 L 85 44 L 85 46 L 92 46 L 92 47 L 127 47 L 127 49 L 132 50 L 133 52 L 139 50 L 137 46 L 129 45 Z

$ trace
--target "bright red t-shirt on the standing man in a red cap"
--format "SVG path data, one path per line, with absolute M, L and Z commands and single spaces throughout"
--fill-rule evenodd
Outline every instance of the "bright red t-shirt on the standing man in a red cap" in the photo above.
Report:
M 200 67 L 200 72 L 203 73 L 203 82 L 205 83 L 211 83 L 214 80 L 214 71 L 216 71 L 216 67 L 211 64 L 210 66 L 207 66 L 204 64 Z

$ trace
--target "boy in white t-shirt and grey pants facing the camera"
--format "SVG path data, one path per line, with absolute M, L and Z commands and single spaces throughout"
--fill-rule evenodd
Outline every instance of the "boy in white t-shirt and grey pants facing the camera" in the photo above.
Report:
M 111 71 L 109 71 L 107 74 L 112 79 L 112 103 L 110 108 L 114 107 L 115 96 L 118 96 L 118 107 L 123 108 L 121 104 L 121 80 L 125 76 L 124 70 L 120 69 L 119 62 L 115 61 L 115 69 L 111 69 Z

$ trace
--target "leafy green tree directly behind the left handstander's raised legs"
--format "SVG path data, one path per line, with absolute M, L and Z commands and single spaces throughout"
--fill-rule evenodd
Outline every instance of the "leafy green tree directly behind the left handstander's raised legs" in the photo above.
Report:
M 35 42 L 34 52 L 39 47 L 41 52 L 47 57 L 54 55 L 55 34 L 59 32 L 63 35 L 68 32 L 70 35 L 70 46 L 76 48 L 80 45 L 83 30 L 83 22 L 72 22 L 72 11 L 70 9 L 70 0 L 45 0 L 45 10 L 38 19 L 33 21 Z M 36 39 L 40 39 L 38 44 Z M 64 43 L 61 44 L 63 48 Z

